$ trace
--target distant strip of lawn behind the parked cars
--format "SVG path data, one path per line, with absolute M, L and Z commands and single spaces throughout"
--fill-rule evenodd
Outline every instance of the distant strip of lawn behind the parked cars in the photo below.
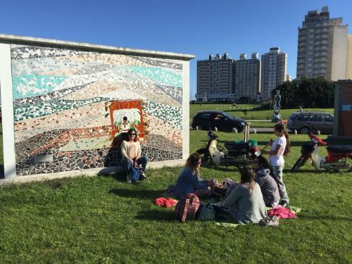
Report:
M 244 118 L 245 120 L 270 120 L 272 116 L 272 110 L 256 110 L 253 108 L 258 107 L 258 105 L 237 105 L 237 110 L 232 110 L 230 109 L 232 107 L 232 104 L 202 104 L 199 106 L 199 104 L 190 104 L 189 105 L 189 122 L 191 123 L 192 118 L 194 115 L 196 115 L 197 112 L 203 111 L 203 110 L 219 110 L 219 111 L 225 111 L 227 113 L 230 113 L 231 115 L 234 115 L 237 118 Z M 244 107 L 244 109 L 242 109 Z M 327 113 L 332 113 L 334 114 L 334 108 L 305 108 L 303 109 L 304 111 L 324 111 Z M 281 110 L 281 115 L 282 119 L 287 120 L 289 118 L 289 115 L 291 113 L 294 113 L 298 111 L 297 109 L 282 109 Z M 266 123 L 261 122 L 259 127 L 267 127 Z M 253 125 L 251 125 L 253 127 Z

